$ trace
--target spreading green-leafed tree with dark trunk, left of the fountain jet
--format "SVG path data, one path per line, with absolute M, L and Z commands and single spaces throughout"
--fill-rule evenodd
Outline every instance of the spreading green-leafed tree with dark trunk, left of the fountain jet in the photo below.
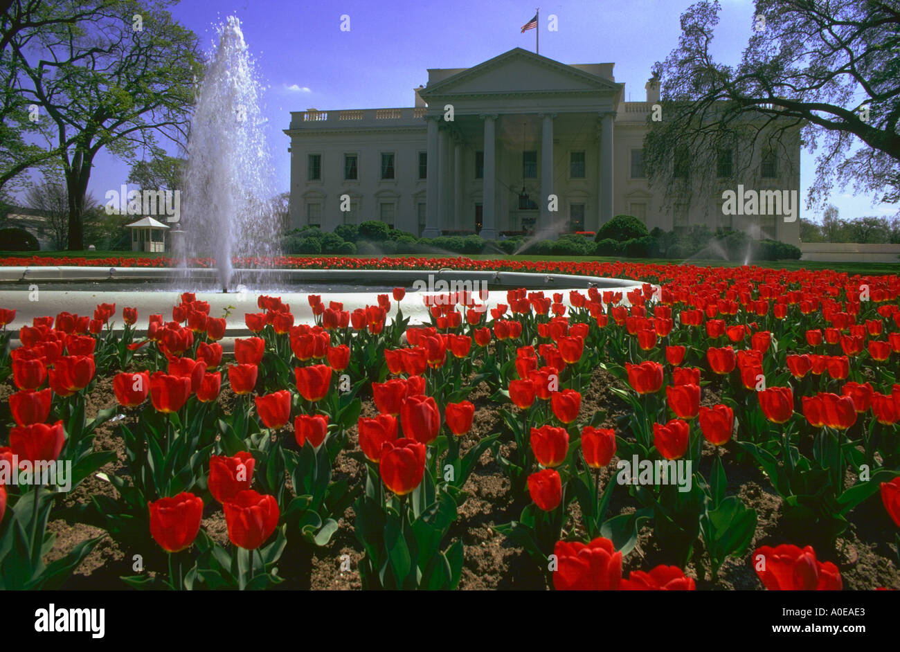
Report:
M 196 35 L 172 20 L 170 4 L 66 0 L 47 11 L 93 10 L 76 22 L 8 34 L 11 54 L 0 63 L 16 68 L 16 90 L 40 107 L 53 132 L 46 149 L 58 153 L 65 175 L 69 249 L 84 248 L 85 192 L 97 152 L 106 147 L 127 159 L 143 148 L 160 156 L 158 138 L 186 140 L 202 64 Z

